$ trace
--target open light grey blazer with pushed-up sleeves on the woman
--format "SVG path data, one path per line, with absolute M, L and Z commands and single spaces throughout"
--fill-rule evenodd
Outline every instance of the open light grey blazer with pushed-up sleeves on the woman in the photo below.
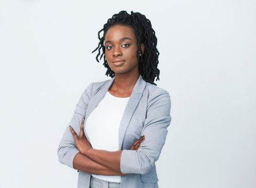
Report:
M 92 83 L 82 93 L 69 123 L 77 134 L 79 134 L 83 117 L 86 123 L 88 116 L 103 99 L 113 81 L 114 78 Z M 111 107 L 106 110 L 111 110 Z M 168 92 L 146 83 L 140 76 L 133 88 L 119 128 L 119 149 L 123 150 L 120 168 L 122 173 L 129 173 L 122 176 L 121 187 L 158 187 L 155 161 L 159 158 L 164 146 L 170 120 Z M 145 141 L 141 147 L 136 151 L 130 150 L 132 144 L 141 135 L 145 135 Z M 78 152 L 67 127 L 58 148 L 59 161 L 73 168 L 73 159 Z M 79 171 L 78 188 L 89 188 L 90 177 L 91 174 Z

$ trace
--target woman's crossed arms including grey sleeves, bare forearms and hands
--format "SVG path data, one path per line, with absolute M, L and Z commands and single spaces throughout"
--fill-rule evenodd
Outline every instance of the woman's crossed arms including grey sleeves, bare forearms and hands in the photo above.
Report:
M 119 151 L 92 149 L 84 136 L 82 120 L 91 96 L 92 85 L 82 93 L 69 123 L 72 127 L 67 127 L 63 134 L 58 148 L 59 161 L 71 168 L 100 175 L 145 174 L 150 171 L 161 153 L 171 119 L 168 93 L 163 89 L 157 89 L 148 97 L 147 117 L 141 132 L 145 139 L 141 143 L 141 148 Z M 136 143 L 137 146 L 139 143 Z M 133 144 L 134 147 L 136 144 Z

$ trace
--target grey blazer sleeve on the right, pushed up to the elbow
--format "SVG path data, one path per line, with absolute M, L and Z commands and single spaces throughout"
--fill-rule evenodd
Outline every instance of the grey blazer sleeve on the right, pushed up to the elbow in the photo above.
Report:
M 138 150 L 122 151 L 122 173 L 145 174 L 151 170 L 165 144 L 170 121 L 170 96 L 167 91 L 158 88 L 148 97 L 147 114 L 141 133 L 145 135 L 145 141 Z

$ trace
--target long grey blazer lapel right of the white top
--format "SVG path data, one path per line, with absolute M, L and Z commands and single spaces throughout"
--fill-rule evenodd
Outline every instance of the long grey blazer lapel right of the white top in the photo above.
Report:
M 123 139 L 125 132 L 127 130 L 127 127 L 131 121 L 132 115 L 138 105 L 138 102 L 140 102 L 142 93 L 144 91 L 144 88 L 146 86 L 146 81 L 144 81 L 141 76 L 138 78 L 132 94 L 130 96 L 129 101 L 127 102 L 126 108 L 124 110 L 124 114 L 120 123 L 119 127 L 119 150 L 121 150 L 123 145 Z

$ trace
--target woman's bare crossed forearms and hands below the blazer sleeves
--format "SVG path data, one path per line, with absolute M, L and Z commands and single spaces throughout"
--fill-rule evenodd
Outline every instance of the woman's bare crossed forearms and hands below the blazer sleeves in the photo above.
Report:
M 93 149 L 83 131 L 84 119 L 81 123 L 79 136 L 70 126 L 70 131 L 74 137 L 74 142 L 79 153 L 74 157 L 73 167 L 83 172 L 100 174 L 100 175 L 126 175 L 121 173 L 120 158 L 122 150 L 105 151 Z M 145 136 L 133 143 L 131 150 L 140 148 L 141 143 L 145 140 Z M 103 157 L 102 157 L 103 156 Z

